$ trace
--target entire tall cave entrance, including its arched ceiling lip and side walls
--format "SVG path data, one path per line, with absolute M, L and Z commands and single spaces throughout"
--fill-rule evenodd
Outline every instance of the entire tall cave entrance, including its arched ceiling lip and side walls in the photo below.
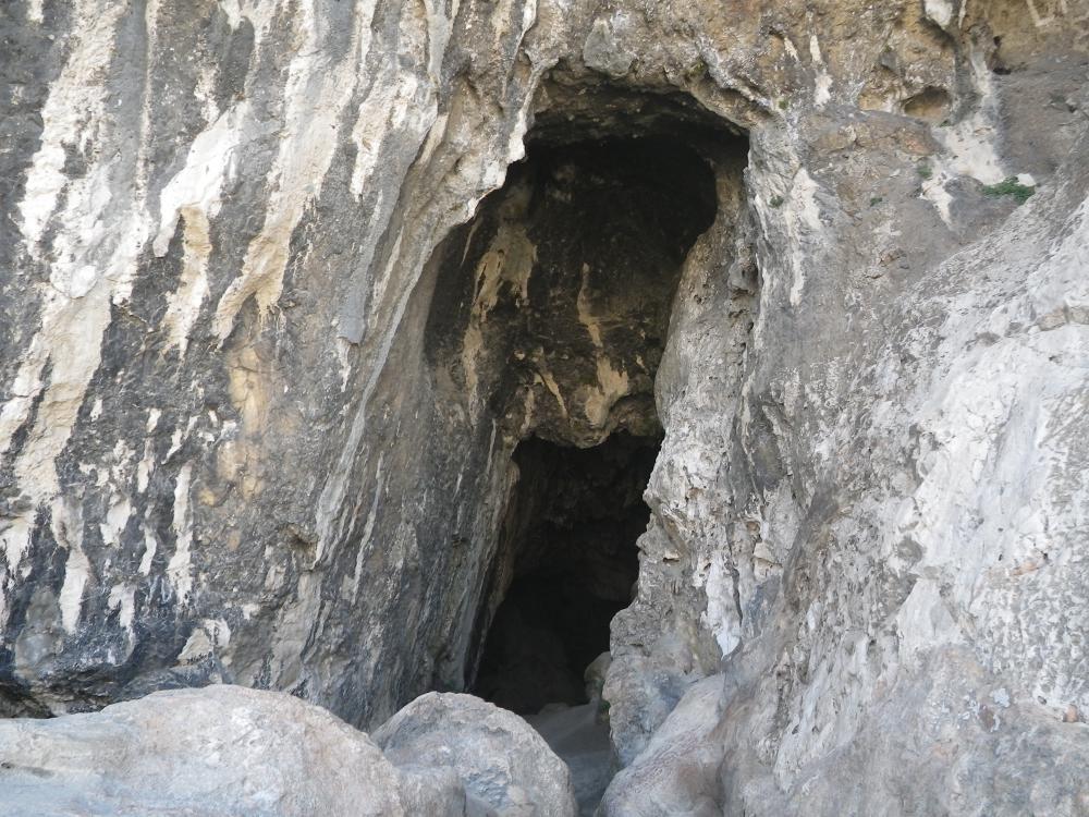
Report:
M 544 96 L 526 158 L 425 284 L 448 558 L 468 576 L 446 590 L 457 618 L 437 674 L 523 715 L 586 702 L 584 672 L 632 601 L 685 259 L 707 234 L 682 295 L 698 304 L 729 273 L 748 150 L 684 95 Z

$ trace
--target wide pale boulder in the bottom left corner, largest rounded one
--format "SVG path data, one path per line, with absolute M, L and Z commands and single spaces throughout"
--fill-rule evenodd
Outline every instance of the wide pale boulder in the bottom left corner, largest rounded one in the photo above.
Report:
M 367 735 L 283 693 L 208 686 L 0 720 L 8 815 L 421 814 L 400 782 Z

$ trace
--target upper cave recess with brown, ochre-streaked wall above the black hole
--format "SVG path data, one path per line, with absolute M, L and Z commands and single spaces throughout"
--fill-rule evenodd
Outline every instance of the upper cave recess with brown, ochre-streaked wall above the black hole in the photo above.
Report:
M 482 401 L 511 443 L 658 434 L 673 297 L 717 210 L 684 139 L 531 141 L 437 270 L 426 345 L 450 403 Z

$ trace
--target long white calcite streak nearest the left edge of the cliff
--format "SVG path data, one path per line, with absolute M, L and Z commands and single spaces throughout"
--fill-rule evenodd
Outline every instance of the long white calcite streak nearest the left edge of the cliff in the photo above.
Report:
M 15 375 L 16 400 L 0 413 L 0 448 L 40 401 L 15 473 L 32 508 L 0 533 L 9 564 L 17 565 L 28 545 L 33 508 L 57 493 L 56 460 L 63 450 L 98 368 L 102 333 L 114 297 L 127 294 L 135 260 L 147 237 L 143 204 L 126 184 L 131 164 L 103 154 L 79 179 L 62 172 L 64 151 L 89 151 L 109 132 L 103 74 L 113 58 L 115 27 L 123 9 L 84 0 L 74 10 L 87 25 L 72 35 L 70 57 L 50 86 L 42 110 L 41 146 L 27 172 L 20 203 L 27 255 L 41 258 L 39 241 L 48 223 L 58 225 L 49 259 L 49 284 L 40 289 L 41 313 L 34 339 Z M 58 210 L 58 204 L 63 205 Z M 102 214 L 110 208 L 107 221 Z M 41 375 L 49 366 L 49 379 Z

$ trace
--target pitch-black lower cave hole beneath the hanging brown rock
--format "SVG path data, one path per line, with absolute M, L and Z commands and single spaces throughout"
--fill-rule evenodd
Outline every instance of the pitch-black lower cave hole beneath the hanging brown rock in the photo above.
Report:
M 608 651 L 609 624 L 638 577 L 643 491 L 660 442 L 621 431 L 592 448 L 534 437 L 515 450 L 513 577 L 474 694 L 524 715 L 588 700 L 583 673 Z

